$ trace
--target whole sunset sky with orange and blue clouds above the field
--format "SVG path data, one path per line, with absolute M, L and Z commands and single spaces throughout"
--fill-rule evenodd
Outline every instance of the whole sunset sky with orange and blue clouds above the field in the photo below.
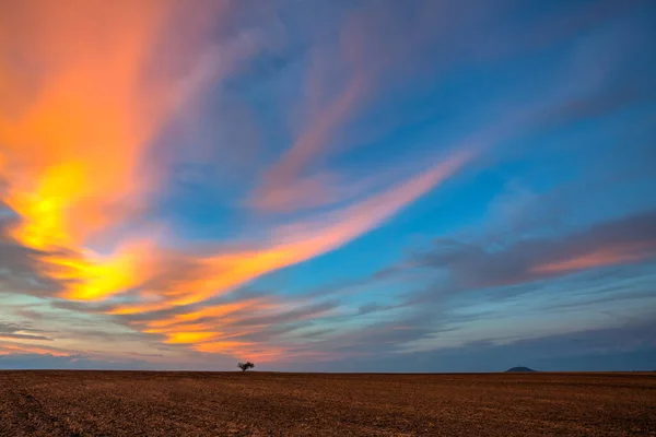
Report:
M 0 0 L 0 368 L 656 368 L 656 2 Z

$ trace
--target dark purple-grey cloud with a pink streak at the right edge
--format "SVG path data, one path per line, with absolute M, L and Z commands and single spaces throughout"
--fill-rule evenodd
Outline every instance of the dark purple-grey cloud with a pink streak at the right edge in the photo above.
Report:
M 441 239 L 414 257 L 418 265 L 446 269 L 457 284 L 482 287 L 518 284 L 656 255 L 656 213 L 644 212 L 560 238 L 525 239 L 492 250 Z

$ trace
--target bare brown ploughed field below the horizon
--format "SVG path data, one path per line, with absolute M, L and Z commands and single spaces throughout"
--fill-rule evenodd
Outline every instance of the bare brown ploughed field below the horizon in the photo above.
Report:
M 0 436 L 656 436 L 656 374 L 0 371 Z

